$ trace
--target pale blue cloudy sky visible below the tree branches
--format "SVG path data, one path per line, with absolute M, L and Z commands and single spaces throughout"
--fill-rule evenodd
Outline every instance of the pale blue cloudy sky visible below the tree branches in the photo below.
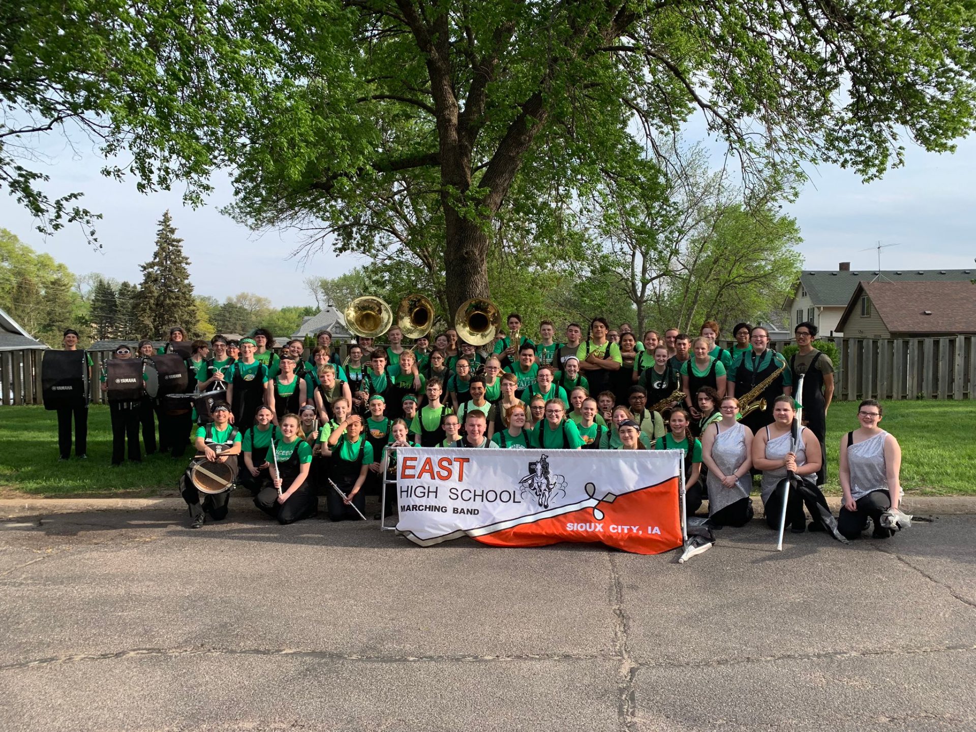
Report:
M 696 136 L 701 136 L 701 129 L 693 120 L 685 140 L 694 142 Z M 95 150 L 71 148 L 55 136 L 40 145 L 47 156 L 41 167 L 52 179 L 46 188 L 49 194 L 83 191 L 82 204 L 102 213 L 97 224 L 102 249 L 86 243 L 78 227 L 43 236 L 6 190 L 0 190 L 0 227 L 76 274 L 99 272 L 138 283 L 139 265 L 152 255 L 157 222 L 166 209 L 183 237 L 195 291 L 220 301 L 247 291 L 278 307 L 313 305 L 305 277 L 335 277 L 368 263 L 355 255 L 337 257 L 331 251 L 307 263 L 290 258 L 301 241 L 297 232 L 260 235 L 220 213 L 231 200 L 224 176 L 214 180 L 216 189 L 207 205 L 194 210 L 183 205 L 179 191 L 142 194 L 131 180 L 117 183 L 103 178 L 103 160 Z M 717 148 L 714 143 L 709 146 Z M 834 166 L 807 170 L 809 182 L 794 203 L 784 206 L 799 225 L 805 269 L 835 269 L 840 262 L 850 262 L 852 269 L 872 270 L 877 265 L 877 242 L 898 245 L 881 251 L 885 269 L 958 269 L 973 263 L 976 140 L 960 141 L 955 154 L 937 155 L 910 146 L 906 159 L 905 167 L 869 184 Z M 221 276 L 215 276 L 218 273 Z

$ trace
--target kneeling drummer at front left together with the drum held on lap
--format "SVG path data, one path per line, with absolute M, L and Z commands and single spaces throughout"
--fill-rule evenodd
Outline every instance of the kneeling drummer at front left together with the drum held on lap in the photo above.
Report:
M 213 407 L 214 423 L 197 427 L 197 455 L 180 478 L 180 493 L 189 507 L 191 529 L 203 526 L 207 513 L 214 521 L 227 517 L 230 489 L 237 477 L 237 456 L 241 452 L 241 435 L 230 424 L 230 406 L 218 402 Z M 203 504 L 200 493 L 205 494 Z

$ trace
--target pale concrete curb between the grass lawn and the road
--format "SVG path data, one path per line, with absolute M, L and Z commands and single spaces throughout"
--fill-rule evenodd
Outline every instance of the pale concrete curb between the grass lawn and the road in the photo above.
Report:
M 234 510 L 253 509 L 259 512 L 244 495 L 233 502 Z M 827 499 L 834 515 L 840 510 L 840 497 Z M 752 497 L 755 517 L 763 516 L 762 504 L 757 496 Z M 902 499 L 901 508 L 906 513 L 919 515 L 972 515 L 976 514 L 976 496 L 909 496 Z M 186 504 L 182 498 L 28 498 L 0 500 L 0 516 L 15 518 L 20 516 L 50 515 L 52 513 L 88 513 L 106 510 L 128 511 L 176 511 L 184 513 Z

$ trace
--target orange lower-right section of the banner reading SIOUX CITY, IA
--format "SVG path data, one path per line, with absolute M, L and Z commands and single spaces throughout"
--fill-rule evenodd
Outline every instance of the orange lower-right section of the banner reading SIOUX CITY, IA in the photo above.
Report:
M 673 477 L 625 493 L 612 503 L 601 501 L 594 508 L 540 518 L 472 539 L 493 547 L 602 542 L 636 554 L 659 554 L 682 546 L 678 490 L 678 478 Z

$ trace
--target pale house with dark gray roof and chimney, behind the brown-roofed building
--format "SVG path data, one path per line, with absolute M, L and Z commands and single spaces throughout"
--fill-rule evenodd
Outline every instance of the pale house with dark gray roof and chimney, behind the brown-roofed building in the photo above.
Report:
M 833 269 L 803 269 L 784 305 L 790 313 L 791 331 L 796 323 L 809 320 L 824 338 L 843 336 L 839 324 L 861 282 L 968 282 L 976 278 L 972 269 L 859 269 L 849 262 Z

